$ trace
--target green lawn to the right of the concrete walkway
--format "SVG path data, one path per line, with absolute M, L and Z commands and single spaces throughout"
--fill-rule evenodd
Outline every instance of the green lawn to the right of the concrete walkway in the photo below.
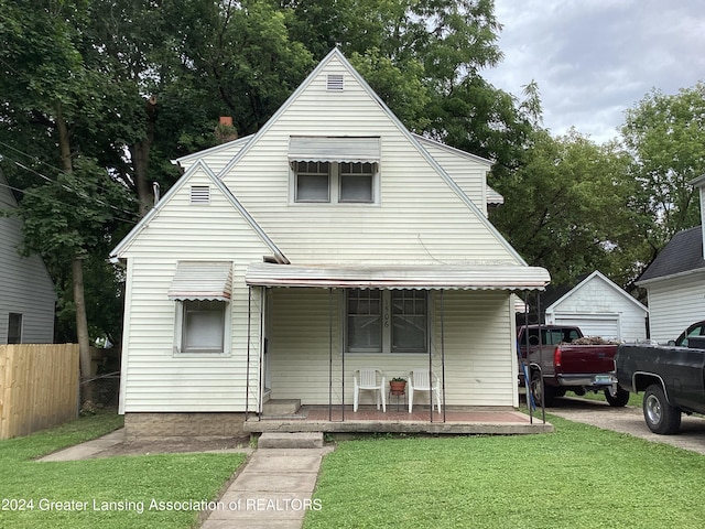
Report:
M 357 440 L 304 528 L 701 528 L 705 457 L 550 417 L 552 434 Z

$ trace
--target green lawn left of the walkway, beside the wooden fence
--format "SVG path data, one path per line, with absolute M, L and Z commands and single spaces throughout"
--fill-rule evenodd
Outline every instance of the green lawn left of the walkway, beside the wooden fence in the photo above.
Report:
M 0 441 L 0 527 L 189 528 L 202 510 L 194 504 L 215 498 L 245 461 L 243 454 L 32 461 L 115 430 L 121 420 L 115 413 L 101 413 Z M 183 504 L 175 508 L 177 501 Z M 80 506 L 85 509 L 77 510 Z

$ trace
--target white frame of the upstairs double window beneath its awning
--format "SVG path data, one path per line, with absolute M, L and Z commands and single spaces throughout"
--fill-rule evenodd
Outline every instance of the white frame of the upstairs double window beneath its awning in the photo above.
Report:
M 306 205 L 306 204 L 336 204 L 340 206 L 370 206 L 370 205 L 379 205 L 380 203 L 380 171 L 379 171 L 379 162 L 319 162 L 328 164 L 328 199 L 327 201 L 306 201 L 300 199 L 299 194 L 299 175 L 308 175 L 313 174 L 310 172 L 299 173 L 299 163 L 296 161 L 292 161 L 289 164 L 290 172 L 290 196 L 291 204 L 295 205 Z M 346 172 L 343 173 L 341 169 L 348 164 L 352 163 L 354 165 L 360 165 L 364 169 L 366 165 L 369 165 L 369 172 Z M 350 201 L 343 198 L 343 179 L 345 176 L 369 176 L 371 180 L 371 199 L 370 201 Z

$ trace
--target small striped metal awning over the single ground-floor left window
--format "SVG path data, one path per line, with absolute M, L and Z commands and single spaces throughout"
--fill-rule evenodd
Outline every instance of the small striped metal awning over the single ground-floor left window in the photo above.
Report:
M 169 299 L 228 301 L 231 290 L 230 261 L 178 261 Z

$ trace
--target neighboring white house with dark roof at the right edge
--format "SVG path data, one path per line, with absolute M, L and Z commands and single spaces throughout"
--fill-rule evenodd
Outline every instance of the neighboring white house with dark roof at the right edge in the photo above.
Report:
M 691 184 L 699 192 L 701 226 L 675 234 L 636 282 L 649 296 L 651 339 L 664 344 L 705 320 L 705 175 Z

